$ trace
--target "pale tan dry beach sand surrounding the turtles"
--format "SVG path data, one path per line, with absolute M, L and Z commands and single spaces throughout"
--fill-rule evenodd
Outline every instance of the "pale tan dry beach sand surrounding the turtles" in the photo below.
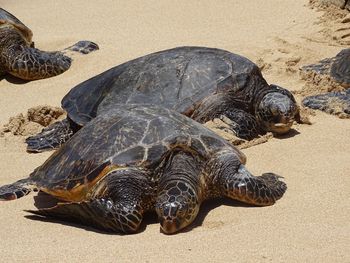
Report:
M 200 2 L 200 3 L 199 3 Z M 76 55 L 66 73 L 40 81 L 0 81 L 0 126 L 27 109 L 60 100 L 74 85 L 112 66 L 182 45 L 218 47 L 259 63 L 269 83 L 301 90 L 299 67 L 337 54 L 346 27 L 307 0 L 4 1 L 0 6 L 34 32 L 37 47 L 63 49 L 92 40 L 100 50 Z M 321 18 L 321 19 L 324 19 Z M 321 21 L 321 22 L 320 22 Z M 348 26 L 349 24 L 347 24 Z M 345 29 L 346 31 L 346 29 Z M 343 30 L 343 32 L 345 32 Z M 349 39 L 347 39 L 349 40 Z M 300 100 L 300 97 L 298 97 Z M 203 204 L 194 227 L 120 236 L 27 218 L 29 196 L 0 204 L 2 262 L 350 262 L 350 122 L 316 112 L 284 138 L 244 149 L 255 174 L 273 171 L 288 190 L 271 207 L 231 201 Z M 0 137 L 0 185 L 27 176 L 50 153 L 28 154 L 23 136 Z

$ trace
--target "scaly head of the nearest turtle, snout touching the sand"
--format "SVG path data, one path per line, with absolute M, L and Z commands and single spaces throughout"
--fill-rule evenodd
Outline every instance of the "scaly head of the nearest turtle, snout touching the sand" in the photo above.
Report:
M 191 224 L 198 210 L 196 194 L 187 183 L 174 183 L 158 195 L 156 212 L 165 234 L 173 234 Z

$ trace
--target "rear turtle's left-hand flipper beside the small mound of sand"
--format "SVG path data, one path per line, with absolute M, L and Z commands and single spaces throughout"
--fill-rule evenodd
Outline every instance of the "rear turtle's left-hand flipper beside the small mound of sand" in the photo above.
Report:
M 43 152 L 59 148 L 79 129 L 69 119 L 55 122 L 40 133 L 26 139 L 28 152 Z

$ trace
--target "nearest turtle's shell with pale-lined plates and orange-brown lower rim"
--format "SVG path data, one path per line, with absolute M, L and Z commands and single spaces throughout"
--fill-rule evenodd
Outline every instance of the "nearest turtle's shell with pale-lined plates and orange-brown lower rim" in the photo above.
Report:
M 32 173 L 31 180 L 60 199 L 81 201 L 111 169 L 139 167 L 154 177 L 170 149 L 206 160 L 226 147 L 245 163 L 238 149 L 184 115 L 150 105 L 115 105 L 80 129 Z

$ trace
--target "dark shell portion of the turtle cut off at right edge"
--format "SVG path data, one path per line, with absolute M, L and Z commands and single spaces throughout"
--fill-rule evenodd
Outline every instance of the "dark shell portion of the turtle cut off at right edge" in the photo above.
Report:
M 350 48 L 336 55 L 331 66 L 331 76 L 344 87 L 350 87 Z

